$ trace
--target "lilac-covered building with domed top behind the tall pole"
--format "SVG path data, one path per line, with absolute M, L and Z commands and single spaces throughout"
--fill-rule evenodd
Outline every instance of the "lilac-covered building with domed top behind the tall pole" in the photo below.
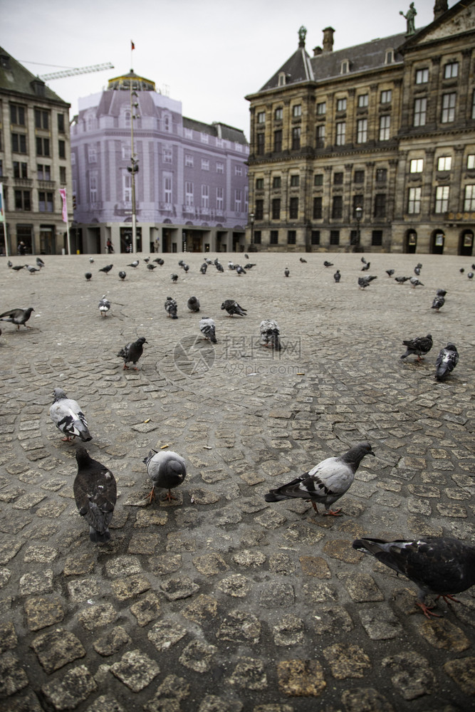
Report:
M 71 127 L 75 246 L 127 251 L 135 166 L 137 251 L 244 249 L 248 155 L 241 130 L 184 117 L 132 71 L 111 79 L 79 100 Z

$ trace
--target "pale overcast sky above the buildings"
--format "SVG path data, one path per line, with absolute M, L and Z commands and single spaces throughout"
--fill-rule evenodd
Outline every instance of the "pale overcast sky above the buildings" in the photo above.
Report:
M 449 7 L 455 0 L 449 0 Z M 433 19 L 434 0 L 415 0 L 416 28 Z M 0 45 L 31 72 L 111 62 L 114 69 L 48 85 L 78 111 L 78 97 L 101 91 L 132 66 L 182 102 L 185 116 L 241 128 L 249 138 L 254 93 L 298 46 L 334 49 L 404 32 L 407 0 L 0 0 Z M 33 64 L 41 62 L 44 65 Z

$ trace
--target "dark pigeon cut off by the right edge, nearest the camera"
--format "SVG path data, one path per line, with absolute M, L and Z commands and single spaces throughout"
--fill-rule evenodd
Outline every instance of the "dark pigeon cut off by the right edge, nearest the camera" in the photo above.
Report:
M 437 595 L 437 599 L 443 598 L 446 603 L 459 603 L 454 594 L 475 584 L 475 548 L 451 537 L 422 536 L 395 541 L 364 537 L 355 539 L 353 548 L 374 556 L 414 582 L 419 589 L 417 606 L 429 619 L 440 616 L 432 613 L 433 606 L 424 603 L 428 594 Z

